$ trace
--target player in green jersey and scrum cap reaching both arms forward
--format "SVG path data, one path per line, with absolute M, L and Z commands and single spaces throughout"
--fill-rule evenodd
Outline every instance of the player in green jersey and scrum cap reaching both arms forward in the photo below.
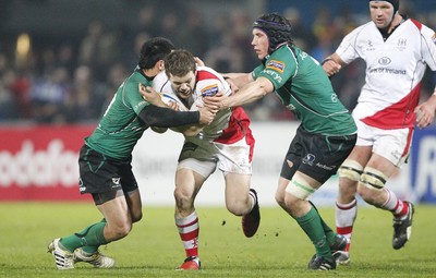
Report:
M 284 157 L 276 201 L 315 246 L 308 268 L 335 269 L 332 252 L 344 250 L 347 239 L 327 226 L 308 198 L 350 154 L 356 126 L 322 65 L 293 45 L 286 17 L 276 13 L 258 17 L 253 25 L 252 46 L 262 64 L 251 74 L 228 74 L 240 90 L 204 101 L 214 104 L 221 98 L 221 108 L 237 107 L 276 93 L 301 121 Z

